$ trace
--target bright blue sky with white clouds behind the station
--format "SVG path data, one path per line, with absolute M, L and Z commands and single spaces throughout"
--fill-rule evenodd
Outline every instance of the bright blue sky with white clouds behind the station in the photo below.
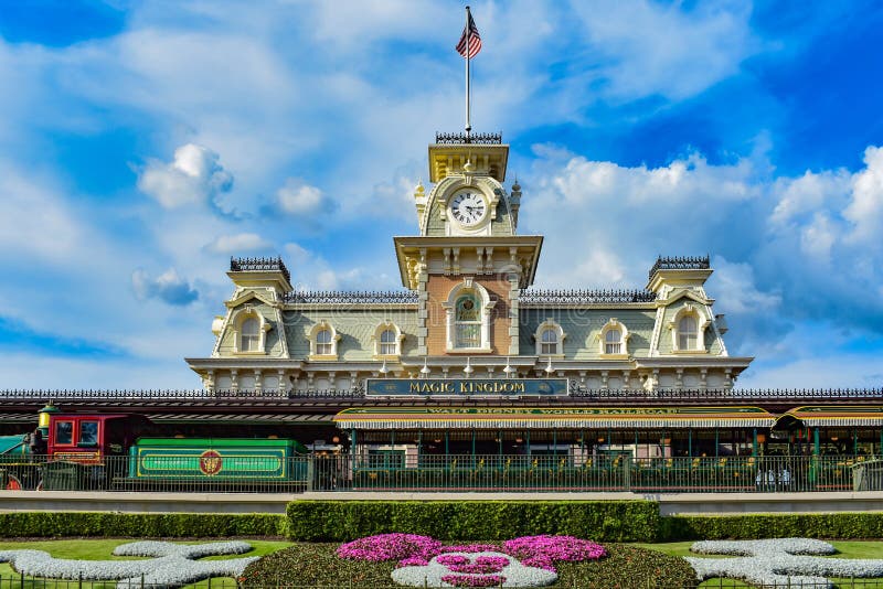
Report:
M 476 1 L 538 286 L 712 256 L 745 387 L 883 385 L 879 2 Z M 231 255 L 398 287 L 462 4 L 0 0 L 0 387 L 196 387 Z

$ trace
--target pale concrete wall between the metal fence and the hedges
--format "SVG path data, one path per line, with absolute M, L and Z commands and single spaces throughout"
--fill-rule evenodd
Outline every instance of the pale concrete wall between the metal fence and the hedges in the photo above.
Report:
M 105 511 L 185 513 L 285 513 L 289 501 L 658 501 L 662 515 L 732 513 L 883 512 L 883 492 L 837 493 L 123 493 L 0 491 L 0 512 Z

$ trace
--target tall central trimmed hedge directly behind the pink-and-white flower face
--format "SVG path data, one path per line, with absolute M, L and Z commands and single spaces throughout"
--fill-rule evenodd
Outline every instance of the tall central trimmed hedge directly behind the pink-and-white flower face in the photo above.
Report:
M 288 537 L 351 540 L 407 532 L 438 539 L 508 539 L 570 534 L 598 542 L 653 542 L 659 506 L 651 501 L 294 501 Z

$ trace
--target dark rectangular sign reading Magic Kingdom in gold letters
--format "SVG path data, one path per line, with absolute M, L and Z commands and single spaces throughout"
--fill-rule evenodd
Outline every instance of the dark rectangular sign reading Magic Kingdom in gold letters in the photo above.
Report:
M 369 397 L 556 397 L 566 378 L 369 378 Z

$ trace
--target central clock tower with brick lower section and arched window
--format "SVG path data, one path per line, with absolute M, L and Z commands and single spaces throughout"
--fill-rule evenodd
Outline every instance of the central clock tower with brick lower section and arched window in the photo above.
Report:
M 493 374 L 500 356 L 519 354 L 519 296 L 543 238 L 517 234 L 521 186 L 503 184 L 508 157 L 500 135 L 438 133 L 433 188 L 414 193 L 419 235 L 394 238 L 402 282 L 418 292 L 417 354 L 445 373 L 469 356 Z

